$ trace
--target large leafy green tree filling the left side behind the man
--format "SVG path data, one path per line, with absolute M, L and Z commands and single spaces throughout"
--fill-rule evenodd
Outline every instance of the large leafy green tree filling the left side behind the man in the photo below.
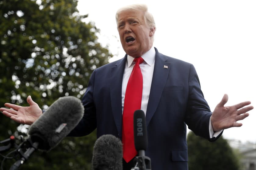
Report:
M 82 22 L 87 15 L 76 6 L 77 0 L 0 1 L 0 107 L 27 106 L 28 95 L 43 109 L 59 97 L 81 98 L 92 71 L 108 63 L 112 54 L 97 41 L 99 29 Z M 26 132 L 0 117 L 0 140 Z M 90 169 L 95 140 L 95 132 L 66 138 L 48 153 L 34 153 L 21 169 Z

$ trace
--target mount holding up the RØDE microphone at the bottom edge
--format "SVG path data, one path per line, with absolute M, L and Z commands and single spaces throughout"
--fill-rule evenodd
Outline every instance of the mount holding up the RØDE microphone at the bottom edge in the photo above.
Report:
M 131 170 L 151 170 L 151 159 L 145 156 L 144 150 L 139 150 L 139 156 L 134 158 L 135 167 Z

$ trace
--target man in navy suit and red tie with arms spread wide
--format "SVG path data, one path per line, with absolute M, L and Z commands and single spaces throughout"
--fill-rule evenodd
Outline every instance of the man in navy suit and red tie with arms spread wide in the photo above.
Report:
M 82 99 L 84 117 L 69 135 L 83 136 L 97 128 L 97 137 L 113 134 L 126 143 L 129 135 L 124 131 L 124 124 L 130 124 L 126 123 L 126 119 L 133 117 L 136 109 L 141 109 L 146 116 L 148 131 L 145 154 L 151 158 L 152 169 L 188 169 L 186 124 L 195 134 L 214 141 L 223 129 L 242 126 L 236 121 L 249 115 L 247 112 L 253 107 L 247 105 L 251 102 L 224 107 L 228 100 L 225 94 L 211 112 L 194 66 L 165 56 L 153 47 L 156 27 L 145 5 L 120 9 L 116 13 L 116 22 L 126 55 L 121 60 L 94 70 Z M 137 63 L 137 60 L 141 60 L 141 63 Z M 140 85 L 133 84 L 131 88 L 129 82 L 135 67 L 139 69 L 136 74 L 140 74 L 143 81 Z M 137 90 L 137 87 L 141 89 Z M 133 94 L 134 99 L 128 100 L 127 91 L 139 91 L 139 94 Z M 137 100 L 138 96 L 140 101 Z M 30 107 L 5 104 L 14 110 L 1 108 L 0 111 L 19 123 L 32 124 L 42 113 L 30 96 L 27 101 Z M 130 109 L 130 115 L 126 114 L 127 109 Z M 129 131 L 133 129 L 128 128 Z M 132 142 L 128 140 L 127 143 Z M 124 155 L 129 155 L 133 149 L 134 146 L 124 151 Z M 134 166 L 133 158 L 136 154 L 124 156 L 125 170 Z

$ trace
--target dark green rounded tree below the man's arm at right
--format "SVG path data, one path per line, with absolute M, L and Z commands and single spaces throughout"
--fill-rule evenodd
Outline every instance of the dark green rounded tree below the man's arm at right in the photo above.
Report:
M 189 170 L 240 169 L 238 155 L 222 136 L 215 142 L 209 142 L 190 131 L 187 144 Z

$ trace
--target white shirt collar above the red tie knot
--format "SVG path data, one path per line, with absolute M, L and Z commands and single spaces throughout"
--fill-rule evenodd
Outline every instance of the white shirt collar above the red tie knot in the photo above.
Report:
M 145 54 L 141 56 L 143 60 L 149 65 L 155 62 L 155 48 L 152 46 L 150 50 L 148 50 Z M 127 66 L 130 67 L 133 63 L 134 58 L 132 56 L 127 55 Z

